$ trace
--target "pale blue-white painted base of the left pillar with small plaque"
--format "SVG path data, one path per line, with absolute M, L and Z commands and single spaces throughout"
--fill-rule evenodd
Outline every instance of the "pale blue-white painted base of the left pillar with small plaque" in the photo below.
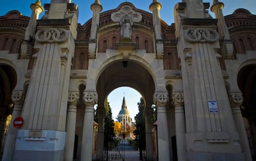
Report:
M 13 160 L 64 160 L 65 138 L 64 131 L 19 130 Z

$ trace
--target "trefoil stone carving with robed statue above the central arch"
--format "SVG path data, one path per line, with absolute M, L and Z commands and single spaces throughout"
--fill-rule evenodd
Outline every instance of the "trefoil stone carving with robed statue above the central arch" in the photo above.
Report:
M 124 38 L 131 38 L 132 26 L 134 22 L 140 22 L 142 15 L 135 12 L 129 5 L 124 5 L 120 10 L 111 14 L 111 20 L 119 22 L 121 26 L 121 36 Z

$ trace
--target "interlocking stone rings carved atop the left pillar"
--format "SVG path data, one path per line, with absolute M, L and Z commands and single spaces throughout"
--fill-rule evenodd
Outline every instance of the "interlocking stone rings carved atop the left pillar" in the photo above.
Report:
M 38 43 L 64 43 L 68 38 L 69 31 L 56 28 L 40 30 L 35 35 L 35 39 Z

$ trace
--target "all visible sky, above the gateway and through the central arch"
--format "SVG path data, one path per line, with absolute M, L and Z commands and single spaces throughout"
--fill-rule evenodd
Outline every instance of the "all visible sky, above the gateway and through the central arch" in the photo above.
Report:
M 244 8 L 249 10 L 252 14 L 256 14 L 256 1 L 255 0 L 219 0 L 225 4 L 223 9 L 224 15 L 229 15 L 234 12 L 237 8 Z M 11 10 L 19 10 L 22 15 L 30 16 L 30 4 L 36 2 L 36 0 L 15 0 L 15 1 L 7 1 L 2 0 L 0 6 L 0 15 L 5 15 L 7 12 Z M 41 0 L 41 4 L 47 4 L 51 2 L 51 0 Z M 95 2 L 95 0 L 74 0 L 72 1 L 79 6 L 79 23 L 84 24 L 92 17 L 92 11 L 90 10 L 90 5 Z M 103 6 L 103 11 L 109 9 L 115 9 L 121 2 L 126 2 L 124 0 L 100 0 L 101 5 Z M 146 10 L 150 12 L 149 6 L 152 2 L 146 0 L 127 0 L 127 2 L 132 2 L 135 7 L 138 9 Z M 173 9 L 174 5 L 177 2 L 181 2 L 181 0 L 158 0 L 161 2 L 162 9 L 160 10 L 161 19 L 163 19 L 168 25 L 174 23 L 173 18 Z M 210 2 L 212 5 L 213 0 L 205 0 L 203 2 Z M 214 18 L 215 15 L 210 11 L 209 13 Z M 40 15 L 42 17 L 43 14 Z M 124 94 L 125 93 L 125 94 Z M 122 98 L 126 97 L 127 108 L 130 112 L 132 120 L 134 121 L 134 116 L 139 112 L 137 109 L 137 103 L 140 101 L 140 94 L 132 88 L 122 87 L 115 89 L 108 96 L 109 104 L 112 108 L 113 117 L 116 118 L 119 110 L 121 110 Z

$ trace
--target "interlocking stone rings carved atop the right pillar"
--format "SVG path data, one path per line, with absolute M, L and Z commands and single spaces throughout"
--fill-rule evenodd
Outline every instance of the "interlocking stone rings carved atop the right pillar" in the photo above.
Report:
M 214 43 L 219 39 L 217 31 L 209 28 L 188 29 L 184 36 L 190 43 Z

